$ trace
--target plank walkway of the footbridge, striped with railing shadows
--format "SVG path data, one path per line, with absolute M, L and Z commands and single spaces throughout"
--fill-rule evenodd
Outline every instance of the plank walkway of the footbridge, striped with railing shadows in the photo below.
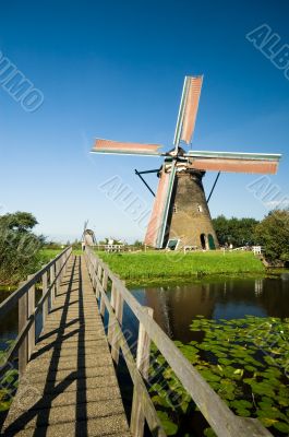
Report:
M 4 436 L 130 436 L 85 262 L 72 257 Z

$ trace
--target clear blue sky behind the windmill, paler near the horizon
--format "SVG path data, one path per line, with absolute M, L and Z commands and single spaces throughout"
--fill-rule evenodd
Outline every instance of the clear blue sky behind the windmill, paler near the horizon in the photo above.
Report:
M 89 149 L 96 137 L 170 147 L 183 78 L 200 73 L 193 147 L 282 153 L 272 182 L 289 196 L 289 81 L 245 38 L 266 23 L 289 44 L 288 14 L 287 0 L 4 2 L 0 50 L 44 104 L 26 113 L 0 86 L 0 213 L 31 211 L 51 238 L 80 237 L 86 218 L 97 238 L 142 238 L 144 226 L 99 186 L 117 175 L 149 210 L 133 169 L 161 161 Z M 212 215 L 264 216 L 268 205 L 248 189 L 255 179 L 222 174 Z

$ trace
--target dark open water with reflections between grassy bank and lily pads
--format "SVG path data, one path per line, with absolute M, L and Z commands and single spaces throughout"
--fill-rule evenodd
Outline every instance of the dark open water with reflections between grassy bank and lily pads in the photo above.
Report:
M 146 287 L 133 291 L 154 308 L 154 318 L 174 340 L 190 341 L 191 320 L 232 319 L 245 315 L 289 317 L 289 274 L 278 279 L 228 279 L 188 285 Z

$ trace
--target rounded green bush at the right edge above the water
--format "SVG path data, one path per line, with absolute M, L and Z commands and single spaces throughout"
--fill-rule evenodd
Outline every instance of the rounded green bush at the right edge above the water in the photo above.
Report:
M 255 236 L 272 262 L 289 262 L 289 210 L 274 210 L 256 226 Z

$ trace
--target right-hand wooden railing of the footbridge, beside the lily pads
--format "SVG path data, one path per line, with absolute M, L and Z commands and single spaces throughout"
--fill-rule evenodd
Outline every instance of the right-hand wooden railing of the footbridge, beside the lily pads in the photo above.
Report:
M 174 343 L 153 319 L 152 308 L 142 306 L 125 287 L 124 283 L 111 272 L 100 258 L 85 248 L 89 276 L 99 302 L 101 316 L 108 311 L 108 341 L 116 364 L 119 351 L 128 366 L 133 381 L 133 401 L 130 428 L 134 437 L 144 435 L 145 421 L 154 436 L 166 436 L 157 412 L 147 391 L 150 341 L 174 371 L 183 388 L 191 395 L 218 437 L 272 437 L 272 434 L 256 418 L 239 417 L 204 380 L 194 366 L 183 356 Z M 110 286 L 110 299 L 107 295 Z M 127 303 L 139 320 L 136 359 L 122 331 L 123 304 Z

